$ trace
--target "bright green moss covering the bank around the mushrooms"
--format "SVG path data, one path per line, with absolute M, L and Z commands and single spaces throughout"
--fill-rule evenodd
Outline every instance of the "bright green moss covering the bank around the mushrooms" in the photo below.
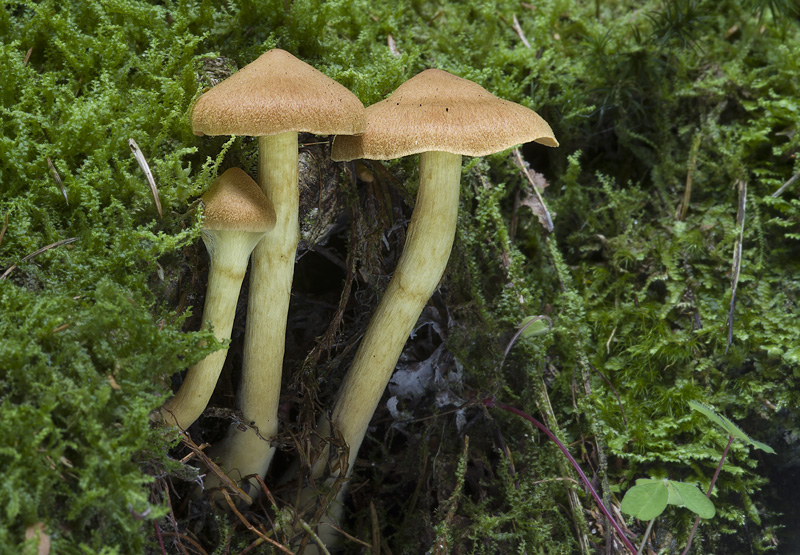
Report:
M 780 530 L 787 522 L 780 513 L 790 506 L 774 476 L 790 472 L 800 433 L 800 201 L 797 184 L 772 194 L 800 171 L 800 30 L 790 7 L 6 2 L 0 228 L 6 216 L 8 227 L 0 271 L 18 266 L 0 281 L 0 545 L 19 545 L 37 522 L 58 551 L 155 545 L 151 521 L 166 509 L 150 491 L 154 476 L 173 468 L 174 438 L 151 429 L 148 415 L 171 375 L 219 347 L 210 334 L 184 329 L 196 329 L 185 324 L 203 289 L 189 206 L 218 168 L 253 167 L 252 141 L 195 137 L 188 112 L 208 82 L 204 61 L 223 56 L 242 67 L 275 46 L 365 104 L 435 66 L 551 122 L 561 148 L 523 148 L 550 184 L 543 193 L 555 214 L 550 236 L 516 205 L 530 189 L 506 156 L 465 164 L 441 299 L 467 391 L 508 397 L 530 412 L 551 414 L 551 405 L 558 433 L 586 468 L 598 469 L 612 498 L 646 475 L 708 483 L 725 438 L 687 413 L 686 401 L 703 400 L 778 455 L 733 448 L 714 499 L 718 516 L 701 526 L 698 552 L 748 553 L 738 533 L 745 519 L 756 552 L 768 550 L 773 536 L 788 545 L 794 532 Z M 161 219 L 131 138 L 153 170 Z M 397 177 L 413 174 L 412 166 L 386 167 Z M 740 179 L 748 183 L 747 211 L 726 352 Z M 413 185 L 398 178 L 387 187 L 395 185 L 403 189 L 395 198 L 411 197 Z M 367 318 L 362 305 L 350 306 L 345 322 Z M 507 332 L 535 314 L 551 317 L 553 332 L 519 343 L 496 370 Z M 473 408 L 465 414 L 484 418 Z M 433 452 L 437 464 L 454 469 L 463 444 L 448 418 L 415 433 L 427 438 L 448 426 L 454 437 Z M 576 549 L 573 519 L 578 529 L 586 525 L 563 508 L 568 471 L 529 433 L 503 424 L 517 463 L 512 475 L 506 455 L 497 454 L 495 429 L 470 432 L 463 498 L 445 530 L 458 549 Z M 382 460 L 390 448 L 371 454 Z M 419 478 L 423 489 L 454 485 L 452 475 L 434 479 L 431 464 L 415 459 L 411 467 L 430 473 Z M 376 499 L 409 489 L 406 482 L 375 488 Z M 435 537 L 436 500 L 444 498 L 419 495 L 428 502 L 402 518 L 391 501 L 378 503 L 394 552 L 431 547 L 423 540 Z M 401 524 L 407 529 L 398 531 Z M 676 513 L 659 528 L 679 544 L 690 525 Z M 238 533 L 233 526 L 218 524 L 222 532 L 207 550 L 224 551 L 225 537 Z

